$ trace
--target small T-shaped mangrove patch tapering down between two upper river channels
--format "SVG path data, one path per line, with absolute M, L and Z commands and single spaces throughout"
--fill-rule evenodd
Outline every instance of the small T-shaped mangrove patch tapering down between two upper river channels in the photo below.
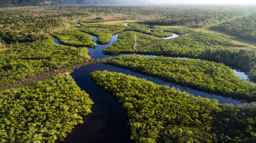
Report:
M 111 36 L 124 31 L 125 25 L 103 25 L 103 24 L 93 24 L 93 25 L 83 25 L 79 28 L 80 31 L 96 35 L 97 43 L 106 44 L 111 40 Z

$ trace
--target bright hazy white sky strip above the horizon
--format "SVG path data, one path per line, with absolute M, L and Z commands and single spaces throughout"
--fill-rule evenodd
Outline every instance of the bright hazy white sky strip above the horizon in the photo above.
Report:
M 148 0 L 152 3 L 256 4 L 256 0 Z

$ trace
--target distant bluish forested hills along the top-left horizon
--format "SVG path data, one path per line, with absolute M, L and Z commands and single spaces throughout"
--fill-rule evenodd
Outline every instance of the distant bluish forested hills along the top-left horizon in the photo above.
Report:
M 147 0 L 0 0 L 0 7 L 45 5 L 142 4 Z

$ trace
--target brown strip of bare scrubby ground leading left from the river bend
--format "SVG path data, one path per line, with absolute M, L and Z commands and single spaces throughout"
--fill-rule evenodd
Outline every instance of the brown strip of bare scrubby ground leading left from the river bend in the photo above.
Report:
M 100 63 L 100 59 L 89 59 L 89 60 L 85 60 L 83 63 L 77 64 L 77 65 L 73 65 L 73 66 L 69 66 L 69 67 L 65 67 L 65 68 L 60 68 L 60 69 L 54 69 L 48 72 L 45 72 L 43 74 L 38 74 L 29 78 L 24 78 L 20 81 L 15 81 L 9 84 L 5 84 L 3 86 L 0 87 L 0 90 L 5 90 L 5 89 L 9 89 L 9 88 L 16 88 L 16 87 L 20 87 L 23 85 L 27 85 L 36 81 L 40 81 L 40 80 L 44 80 L 46 78 L 52 77 L 56 74 L 59 73 L 64 73 L 64 72 L 72 72 L 74 69 L 78 69 L 81 67 L 85 67 L 85 66 L 89 66 L 89 65 L 94 65 L 94 64 L 98 64 Z

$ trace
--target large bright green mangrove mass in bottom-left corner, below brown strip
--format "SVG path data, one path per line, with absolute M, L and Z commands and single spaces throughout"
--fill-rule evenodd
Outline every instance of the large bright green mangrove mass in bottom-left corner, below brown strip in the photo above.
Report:
M 55 142 L 63 139 L 93 102 L 69 73 L 0 91 L 1 142 Z

